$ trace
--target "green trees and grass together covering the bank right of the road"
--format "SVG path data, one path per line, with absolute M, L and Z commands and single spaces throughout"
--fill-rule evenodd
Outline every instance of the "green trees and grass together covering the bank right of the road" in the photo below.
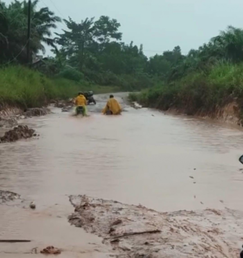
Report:
M 177 53 L 174 64 L 167 63 L 168 52 L 151 58 L 151 64 L 161 67 L 153 72 L 159 71 L 163 79 L 138 95 L 131 94 L 130 99 L 187 114 L 214 112 L 233 99 L 243 107 L 243 30 L 230 26 L 187 56 Z

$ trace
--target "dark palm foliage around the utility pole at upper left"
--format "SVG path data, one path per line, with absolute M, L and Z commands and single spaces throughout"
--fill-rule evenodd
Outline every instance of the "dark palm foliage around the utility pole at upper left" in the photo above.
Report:
M 31 5 L 31 37 L 30 48 L 32 53 L 45 52 L 43 43 L 54 46 L 51 39 L 51 29 L 56 28 L 56 22 L 61 19 L 55 16 L 48 7 L 37 9 L 38 0 Z M 0 62 L 8 62 L 16 57 L 20 63 L 26 61 L 28 2 L 12 2 L 7 7 L 2 5 L 0 12 L 0 40 L 2 55 Z M 2 23 L 2 20 L 5 22 Z M 2 26 L 4 24 L 4 26 Z M 7 43 L 7 44 L 6 44 Z

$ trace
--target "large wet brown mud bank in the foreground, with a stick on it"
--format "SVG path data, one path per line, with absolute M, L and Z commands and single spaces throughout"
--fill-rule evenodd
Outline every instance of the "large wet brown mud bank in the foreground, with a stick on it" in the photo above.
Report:
M 116 257 L 239 257 L 243 212 L 157 212 L 87 196 L 70 196 L 69 222 L 103 237 Z

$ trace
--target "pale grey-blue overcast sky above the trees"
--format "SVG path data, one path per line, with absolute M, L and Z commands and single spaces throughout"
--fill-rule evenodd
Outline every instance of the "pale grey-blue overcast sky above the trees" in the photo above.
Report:
M 142 43 L 147 56 L 176 45 L 186 54 L 228 25 L 243 28 L 243 0 L 39 0 L 38 5 L 77 22 L 101 15 L 116 18 L 123 41 Z

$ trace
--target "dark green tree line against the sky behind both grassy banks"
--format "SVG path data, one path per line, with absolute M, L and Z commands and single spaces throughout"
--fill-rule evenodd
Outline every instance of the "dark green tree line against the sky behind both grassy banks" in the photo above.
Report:
M 9 5 L 0 1 L 0 65 L 25 64 L 28 1 L 15 0 Z M 61 33 L 52 31 L 64 22 Z M 53 57 L 45 61 L 42 72 L 76 81 L 115 85 L 124 90 L 148 88 L 157 82 L 170 83 L 195 71 L 207 73 L 218 62 L 243 61 L 243 30 L 229 26 L 187 55 L 180 46 L 162 55 L 147 58 L 143 45 L 122 41 L 120 23 L 101 16 L 61 19 L 48 7 L 31 6 L 30 48 L 33 55 L 45 52 L 43 43 L 52 48 Z

